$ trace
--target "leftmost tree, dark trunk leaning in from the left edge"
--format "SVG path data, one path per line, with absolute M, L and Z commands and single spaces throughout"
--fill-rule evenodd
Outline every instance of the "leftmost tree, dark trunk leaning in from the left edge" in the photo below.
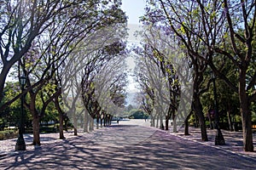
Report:
M 31 48 L 32 42 L 57 22 L 68 8 L 82 1 L 1 1 L 0 101 L 10 68 Z

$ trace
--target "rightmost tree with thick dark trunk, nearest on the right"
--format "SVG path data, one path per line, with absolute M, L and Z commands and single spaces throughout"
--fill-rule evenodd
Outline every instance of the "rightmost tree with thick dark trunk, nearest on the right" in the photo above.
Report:
M 214 2 L 214 1 L 213 1 Z M 242 120 L 243 130 L 243 144 L 244 150 L 253 151 L 253 133 L 252 133 L 252 117 L 250 107 L 253 100 L 256 99 L 255 83 L 256 72 L 249 71 L 249 68 L 255 65 L 255 59 L 253 59 L 253 29 L 256 22 L 256 2 L 228 2 L 226 0 L 223 3 L 214 2 L 212 7 L 212 13 L 216 14 L 212 16 L 212 20 L 209 19 L 210 14 L 207 14 L 207 8 L 202 3 L 199 3 L 201 8 L 201 16 L 203 22 L 205 22 L 205 30 L 208 26 L 215 27 L 219 30 L 217 32 L 211 29 L 214 37 L 213 40 L 209 39 L 204 41 L 208 48 L 208 53 L 221 54 L 227 59 L 230 59 L 233 65 L 239 72 L 236 83 L 231 82 L 229 77 L 226 77 L 221 69 L 218 68 L 216 63 L 213 62 L 213 56 L 209 56 L 207 62 L 218 77 L 224 80 L 230 88 L 238 93 L 240 100 L 240 112 Z M 218 11 L 222 9 L 222 14 Z M 236 20 L 236 17 L 241 20 Z M 224 24 L 218 24 L 218 20 L 222 20 Z M 212 22 L 211 22 L 212 21 Z M 241 31 L 244 31 L 241 34 Z M 207 35 L 207 32 L 205 32 Z M 230 42 L 232 51 L 228 48 Z

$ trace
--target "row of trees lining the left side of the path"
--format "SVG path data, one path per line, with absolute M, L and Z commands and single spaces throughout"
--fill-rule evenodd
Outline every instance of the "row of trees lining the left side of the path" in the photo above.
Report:
M 126 16 L 121 2 L 0 3 L 1 117 L 9 116 L 8 110 L 26 95 L 33 144 L 40 144 L 39 125 L 49 111 L 59 114 L 61 139 L 66 114 L 75 128 L 84 122 L 85 132 L 93 118 L 109 122 L 113 107 L 121 108 L 125 100 L 125 69 L 120 67 L 124 66 Z M 26 86 L 20 93 L 15 80 L 23 74 Z M 6 86 L 8 75 L 11 88 Z

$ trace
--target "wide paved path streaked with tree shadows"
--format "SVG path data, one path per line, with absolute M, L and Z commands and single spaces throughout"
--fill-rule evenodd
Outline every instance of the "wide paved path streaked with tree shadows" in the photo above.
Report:
M 134 123 L 134 122 L 133 122 Z M 253 156 L 200 144 L 148 127 L 148 122 L 119 122 L 93 133 L 58 140 L 41 135 L 42 146 L 15 152 L 15 139 L 1 141 L 0 169 L 255 169 Z M 192 133 L 192 131 L 190 131 Z M 180 133 L 181 135 L 182 133 Z M 194 137 L 193 137 L 194 136 Z M 186 137 L 187 138 L 187 137 Z M 26 144 L 32 141 L 26 135 Z M 195 140 L 195 141 L 193 141 Z M 210 144 L 210 142 L 209 142 Z M 4 146 L 5 145 L 5 146 Z M 5 150 L 4 150 L 5 149 Z

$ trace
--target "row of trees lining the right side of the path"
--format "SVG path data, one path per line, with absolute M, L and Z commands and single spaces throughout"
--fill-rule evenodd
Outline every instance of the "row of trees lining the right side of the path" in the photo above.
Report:
M 161 124 L 164 117 L 179 123 L 191 114 L 187 106 L 191 102 L 201 139 L 207 141 L 204 111 L 212 105 L 212 71 L 222 81 L 218 81 L 221 107 L 229 114 L 240 109 L 244 150 L 253 151 L 255 9 L 254 0 L 148 0 L 142 17 L 143 42 L 135 50 L 140 56 L 136 74 L 144 110 L 159 116 Z

